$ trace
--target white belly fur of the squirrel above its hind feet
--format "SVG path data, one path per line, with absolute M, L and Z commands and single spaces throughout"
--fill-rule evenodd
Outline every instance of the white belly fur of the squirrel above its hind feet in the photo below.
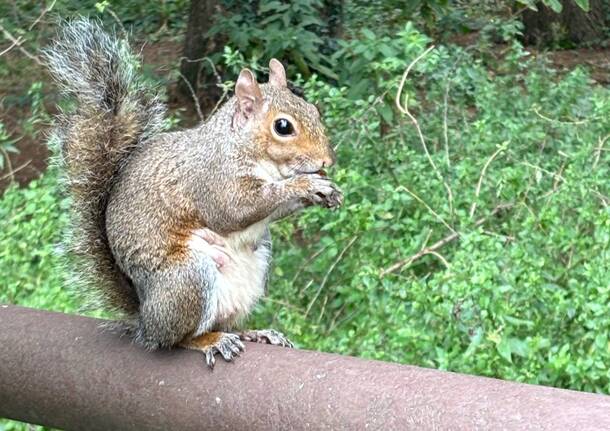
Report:
M 222 237 L 224 246 L 211 246 L 196 236 L 191 239 L 194 253 L 210 256 L 210 248 L 215 247 L 230 258 L 221 268 L 212 265 L 216 283 L 209 298 L 211 303 L 206 304 L 212 310 L 212 316 L 206 322 L 202 319 L 197 330 L 199 334 L 213 329 L 213 326 L 231 326 L 243 319 L 263 295 L 270 248 L 261 245 L 254 250 L 254 245 L 260 243 L 266 228 L 267 221 L 263 220 L 241 232 L 231 233 Z

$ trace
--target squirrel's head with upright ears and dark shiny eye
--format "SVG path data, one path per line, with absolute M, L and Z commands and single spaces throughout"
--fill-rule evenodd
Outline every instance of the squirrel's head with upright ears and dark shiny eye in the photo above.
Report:
M 250 128 L 257 159 L 273 176 L 314 173 L 335 162 L 320 113 L 288 89 L 284 66 L 272 59 L 269 83 L 244 69 L 235 84 L 234 128 Z M 270 172 L 272 171 L 272 172 Z

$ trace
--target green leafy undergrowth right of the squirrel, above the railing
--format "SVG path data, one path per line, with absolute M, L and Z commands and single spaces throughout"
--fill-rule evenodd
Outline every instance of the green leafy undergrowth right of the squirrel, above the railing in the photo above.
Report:
M 430 158 L 404 116 L 380 133 L 382 99 L 310 80 L 346 205 L 276 227 L 255 323 L 307 348 L 609 392 L 610 94 L 527 58 L 514 43 L 498 73 L 439 47 L 416 67 L 406 91 Z M 392 76 L 402 61 L 369 67 Z

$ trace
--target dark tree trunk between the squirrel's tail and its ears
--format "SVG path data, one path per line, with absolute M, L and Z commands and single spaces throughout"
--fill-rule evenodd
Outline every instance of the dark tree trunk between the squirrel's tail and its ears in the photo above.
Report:
M 205 87 L 203 100 L 213 102 L 220 95 L 216 77 L 211 65 L 203 57 L 214 51 L 216 41 L 206 34 L 218 12 L 217 2 L 210 0 L 191 0 L 189 20 L 184 38 L 183 58 L 180 64 L 179 89 L 184 96 L 198 97 L 200 87 Z

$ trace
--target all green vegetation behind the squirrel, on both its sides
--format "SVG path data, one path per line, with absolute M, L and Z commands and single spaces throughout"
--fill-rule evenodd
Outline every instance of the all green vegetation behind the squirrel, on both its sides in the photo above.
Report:
M 184 3 L 63 0 L 54 12 L 98 13 L 109 25 L 116 16 L 154 45 L 182 34 Z M 248 2 L 240 15 L 226 2 L 210 34 L 228 29 L 210 53 L 222 80 L 245 64 L 264 74 L 271 55 L 293 64 L 323 111 L 338 152 L 330 174 L 345 192 L 339 212 L 274 226 L 269 297 L 250 324 L 303 348 L 610 393 L 610 89 L 586 67 L 559 71 L 524 47 L 507 2 L 481 1 L 474 17 L 461 2 L 413 2 L 412 21 L 392 1 L 346 2 L 333 34 L 322 31 L 330 2 L 297 3 L 288 14 L 283 2 Z M 15 5 L 31 20 L 0 20 L 11 33 L 42 8 Z M 295 33 L 283 38 L 287 27 Z M 50 30 L 24 33 L 25 48 L 35 52 Z M 31 62 L 17 50 L 0 56 L 0 80 L 9 55 Z M 178 59 L 172 67 L 147 73 L 169 82 Z M 50 109 L 57 97 L 45 91 Z M 37 109 L 28 118 L 46 118 Z M 174 114 L 174 127 L 189 115 Z M 0 148 L 14 138 L 0 127 Z M 4 192 L 0 302 L 78 309 L 56 247 L 67 206 L 52 169 Z

